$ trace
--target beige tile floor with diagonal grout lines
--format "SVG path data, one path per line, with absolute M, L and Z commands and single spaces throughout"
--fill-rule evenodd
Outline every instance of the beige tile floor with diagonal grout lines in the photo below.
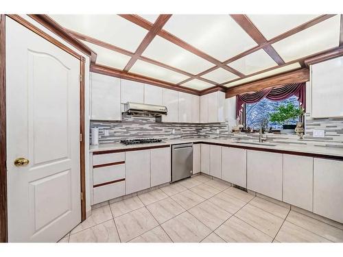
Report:
M 342 228 L 198 175 L 100 205 L 60 242 L 343 242 Z

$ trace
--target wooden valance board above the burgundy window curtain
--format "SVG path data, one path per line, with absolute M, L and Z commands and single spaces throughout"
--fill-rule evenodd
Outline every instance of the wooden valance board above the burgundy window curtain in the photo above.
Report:
M 309 81 L 309 69 L 298 69 L 296 71 L 289 71 L 287 73 L 260 79 L 256 82 L 228 88 L 228 90 L 226 90 L 226 98 L 243 93 L 256 92 L 272 86 L 281 86 L 283 84 L 301 83 L 307 81 Z

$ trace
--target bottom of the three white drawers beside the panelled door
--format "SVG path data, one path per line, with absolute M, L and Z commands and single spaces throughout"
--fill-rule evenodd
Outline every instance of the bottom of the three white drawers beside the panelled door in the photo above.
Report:
M 93 204 L 125 195 L 125 181 L 93 188 Z

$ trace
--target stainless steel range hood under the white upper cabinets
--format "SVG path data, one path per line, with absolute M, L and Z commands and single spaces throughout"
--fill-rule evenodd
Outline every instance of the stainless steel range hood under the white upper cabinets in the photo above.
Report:
M 154 104 L 145 103 L 132 103 L 128 102 L 124 104 L 124 113 L 134 116 L 150 116 L 158 117 L 161 115 L 167 115 L 167 107 L 155 106 Z

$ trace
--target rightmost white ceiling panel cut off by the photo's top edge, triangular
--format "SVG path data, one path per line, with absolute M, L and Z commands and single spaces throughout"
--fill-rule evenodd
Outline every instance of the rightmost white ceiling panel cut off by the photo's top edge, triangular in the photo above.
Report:
M 270 40 L 287 32 L 289 29 L 298 27 L 307 21 L 311 21 L 318 15 L 309 14 L 254 14 L 248 15 L 249 19 L 259 31 Z

